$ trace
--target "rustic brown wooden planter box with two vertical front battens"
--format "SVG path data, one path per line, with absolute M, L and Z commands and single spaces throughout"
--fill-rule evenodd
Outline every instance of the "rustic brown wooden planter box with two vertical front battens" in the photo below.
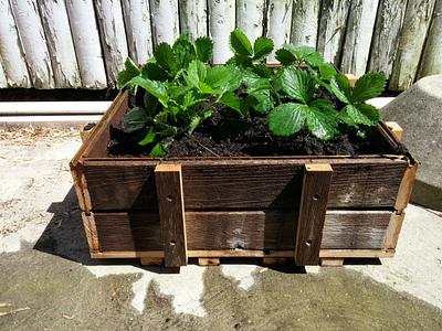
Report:
M 119 94 L 71 162 L 94 258 L 167 267 L 189 257 L 392 257 L 417 162 L 410 156 L 110 158 Z M 394 147 L 380 124 L 378 143 Z

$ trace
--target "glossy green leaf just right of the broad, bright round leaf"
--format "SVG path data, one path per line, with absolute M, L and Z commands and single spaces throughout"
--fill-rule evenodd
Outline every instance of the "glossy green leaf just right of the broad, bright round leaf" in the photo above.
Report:
M 333 138 L 337 132 L 337 111 L 326 99 L 316 99 L 308 105 L 308 130 L 322 140 Z

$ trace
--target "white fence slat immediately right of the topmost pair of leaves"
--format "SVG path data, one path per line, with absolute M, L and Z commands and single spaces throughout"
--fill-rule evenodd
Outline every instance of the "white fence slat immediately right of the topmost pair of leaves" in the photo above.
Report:
M 275 44 L 275 51 L 290 43 L 292 28 L 292 0 L 270 0 L 267 9 L 267 36 Z M 275 61 L 275 53 L 269 55 L 269 62 Z

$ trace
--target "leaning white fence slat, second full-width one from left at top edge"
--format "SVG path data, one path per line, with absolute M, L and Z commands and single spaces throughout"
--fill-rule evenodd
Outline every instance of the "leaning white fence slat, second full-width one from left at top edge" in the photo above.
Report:
M 52 58 L 55 87 L 82 86 L 64 1 L 39 1 L 40 15 Z

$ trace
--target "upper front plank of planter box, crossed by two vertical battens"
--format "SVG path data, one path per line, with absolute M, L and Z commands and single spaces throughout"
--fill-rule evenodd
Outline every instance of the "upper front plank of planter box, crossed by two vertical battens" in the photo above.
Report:
M 406 161 L 332 161 L 335 170 L 328 199 L 330 207 L 392 207 L 407 168 Z M 93 209 L 156 209 L 151 175 L 157 161 L 145 162 L 96 166 L 85 161 Z M 294 209 L 298 205 L 302 160 L 182 164 L 188 209 Z

